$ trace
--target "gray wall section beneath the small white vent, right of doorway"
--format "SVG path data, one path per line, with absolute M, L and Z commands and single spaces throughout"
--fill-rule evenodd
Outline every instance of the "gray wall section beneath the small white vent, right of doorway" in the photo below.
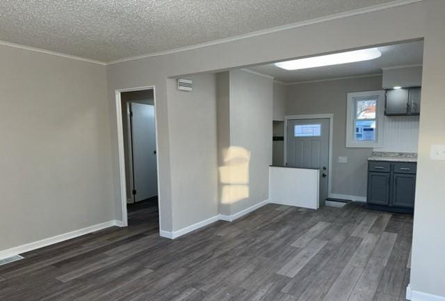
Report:
M 193 91 L 168 79 L 174 231 L 218 215 L 216 75 L 188 76 Z

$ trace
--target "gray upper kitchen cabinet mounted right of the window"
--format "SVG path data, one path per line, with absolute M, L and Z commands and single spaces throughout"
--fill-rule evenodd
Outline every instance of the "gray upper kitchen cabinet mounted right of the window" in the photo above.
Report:
M 421 88 L 400 88 L 386 91 L 385 115 L 420 114 Z

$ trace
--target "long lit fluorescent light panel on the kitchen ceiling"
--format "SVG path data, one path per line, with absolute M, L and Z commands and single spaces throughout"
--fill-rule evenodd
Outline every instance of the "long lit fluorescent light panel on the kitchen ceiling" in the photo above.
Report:
M 377 59 L 382 53 L 378 48 L 360 49 L 351 52 L 341 52 L 337 54 L 327 54 L 324 56 L 314 56 L 307 59 L 296 59 L 275 63 L 279 68 L 285 70 L 300 70 L 307 68 L 322 67 L 325 65 L 340 65 L 343 63 L 354 63 L 357 61 L 369 61 Z

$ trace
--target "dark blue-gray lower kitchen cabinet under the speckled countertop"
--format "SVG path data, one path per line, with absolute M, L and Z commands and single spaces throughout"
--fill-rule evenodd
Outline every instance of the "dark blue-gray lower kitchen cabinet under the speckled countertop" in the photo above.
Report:
M 416 163 L 369 162 L 366 203 L 370 208 L 411 213 L 415 189 Z

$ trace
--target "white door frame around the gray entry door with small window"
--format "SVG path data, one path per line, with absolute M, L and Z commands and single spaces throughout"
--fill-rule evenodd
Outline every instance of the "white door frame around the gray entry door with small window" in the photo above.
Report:
M 285 115 L 284 116 L 284 164 L 287 164 L 287 122 L 289 120 L 303 120 L 303 119 L 329 119 L 329 173 L 327 173 L 327 197 L 332 195 L 332 130 L 334 128 L 334 114 L 302 114 L 302 115 Z

